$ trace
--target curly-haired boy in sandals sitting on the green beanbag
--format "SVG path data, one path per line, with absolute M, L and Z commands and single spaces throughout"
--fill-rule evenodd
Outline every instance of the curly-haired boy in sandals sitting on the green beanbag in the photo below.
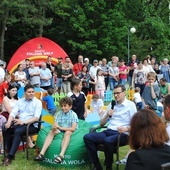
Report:
M 71 110 L 73 103 L 72 98 L 64 97 L 60 99 L 59 103 L 61 111 L 57 113 L 55 123 L 45 139 L 40 154 L 34 159 L 35 161 L 43 161 L 45 159 L 44 154 L 50 146 L 54 136 L 59 133 L 64 133 L 64 138 L 61 145 L 61 152 L 54 159 L 54 162 L 56 164 L 60 164 L 64 159 L 64 154 L 69 145 L 70 137 L 77 128 L 78 117 L 77 114 Z

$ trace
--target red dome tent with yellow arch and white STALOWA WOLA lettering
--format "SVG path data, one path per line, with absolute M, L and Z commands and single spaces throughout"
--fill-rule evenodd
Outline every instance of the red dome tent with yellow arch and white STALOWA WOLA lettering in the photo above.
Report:
M 12 73 L 18 64 L 26 58 L 39 64 L 41 61 L 46 61 L 48 56 L 52 57 L 53 63 L 58 63 L 59 57 L 62 57 L 65 61 L 65 57 L 68 55 L 58 44 L 48 38 L 33 38 L 18 48 L 10 60 L 7 70 Z

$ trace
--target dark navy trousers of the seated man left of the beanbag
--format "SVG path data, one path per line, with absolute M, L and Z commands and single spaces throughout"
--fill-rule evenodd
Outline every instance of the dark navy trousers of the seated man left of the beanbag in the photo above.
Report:
M 5 140 L 5 149 L 8 151 L 8 155 L 14 157 L 17 149 L 20 145 L 22 135 L 26 135 L 27 125 L 17 125 L 7 129 L 3 132 Z M 29 133 L 38 132 L 38 128 L 30 125 Z M 13 137 L 12 137 L 13 136 Z

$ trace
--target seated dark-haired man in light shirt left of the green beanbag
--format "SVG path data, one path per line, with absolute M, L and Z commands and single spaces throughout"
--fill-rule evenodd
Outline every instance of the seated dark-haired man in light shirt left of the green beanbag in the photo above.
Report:
M 27 124 L 38 121 L 42 112 L 41 101 L 34 97 L 34 86 L 27 84 L 24 87 L 24 92 L 25 97 L 16 102 L 5 124 L 3 136 L 8 155 L 1 166 L 8 166 L 12 163 L 20 145 L 21 137 L 26 135 Z M 30 125 L 29 133 L 36 132 L 38 132 L 37 124 Z

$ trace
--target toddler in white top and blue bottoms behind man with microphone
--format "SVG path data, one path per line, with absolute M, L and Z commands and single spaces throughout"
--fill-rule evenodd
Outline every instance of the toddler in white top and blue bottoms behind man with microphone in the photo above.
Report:
M 135 88 L 135 93 L 134 93 L 133 97 L 134 97 L 134 102 L 137 106 L 137 109 L 138 110 L 143 109 L 143 102 L 142 102 L 142 98 L 140 96 L 140 88 L 139 87 Z

